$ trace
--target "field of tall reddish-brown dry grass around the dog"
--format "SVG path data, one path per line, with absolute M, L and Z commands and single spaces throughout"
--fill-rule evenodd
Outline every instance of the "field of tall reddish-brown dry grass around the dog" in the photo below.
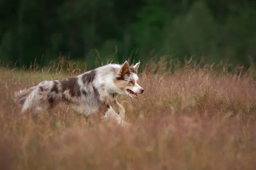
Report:
M 145 65 L 139 76 L 144 94 L 119 97 L 125 120 L 133 124 L 128 129 L 87 120 L 68 107 L 20 115 L 15 91 L 80 74 L 85 67 L 62 60 L 23 70 L 3 64 L 0 170 L 254 170 L 253 72 L 191 62 L 175 69 L 164 59 Z

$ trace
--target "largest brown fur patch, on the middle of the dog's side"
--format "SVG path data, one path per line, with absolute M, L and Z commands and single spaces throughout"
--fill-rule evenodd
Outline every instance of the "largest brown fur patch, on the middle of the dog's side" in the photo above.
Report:
M 77 77 L 69 77 L 67 79 L 61 80 L 60 84 L 62 87 L 62 92 L 69 90 L 71 96 L 80 96 L 80 87 L 76 78 Z

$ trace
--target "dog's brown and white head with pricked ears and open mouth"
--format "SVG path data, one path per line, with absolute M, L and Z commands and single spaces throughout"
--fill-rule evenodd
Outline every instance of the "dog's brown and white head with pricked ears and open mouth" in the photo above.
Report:
M 143 94 L 144 89 L 138 85 L 137 71 L 140 66 L 138 62 L 134 66 L 130 66 L 127 61 L 121 66 L 117 77 L 115 79 L 116 87 L 121 90 L 122 94 L 129 95 L 132 98 L 137 99 L 138 94 Z

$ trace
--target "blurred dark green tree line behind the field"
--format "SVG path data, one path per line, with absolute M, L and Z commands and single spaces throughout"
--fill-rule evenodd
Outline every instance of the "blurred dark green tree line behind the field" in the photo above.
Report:
M 0 59 L 123 62 L 155 54 L 250 66 L 256 0 L 0 0 Z

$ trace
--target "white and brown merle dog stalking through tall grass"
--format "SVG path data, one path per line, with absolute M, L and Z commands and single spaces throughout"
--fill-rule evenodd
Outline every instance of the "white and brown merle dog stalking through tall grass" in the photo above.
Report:
M 102 114 L 106 120 L 113 118 L 118 125 L 125 122 L 125 109 L 117 102 L 117 96 L 128 95 L 138 99 L 144 89 L 138 85 L 137 71 L 140 62 L 129 66 L 108 64 L 87 71 L 76 77 L 43 81 L 37 86 L 15 93 L 15 101 L 22 105 L 21 113 L 34 108 L 35 112 L 51 111 L 56 105 L 71 105 L 79 113 Z M 116 108 L 116 109 L 114 109 Z

